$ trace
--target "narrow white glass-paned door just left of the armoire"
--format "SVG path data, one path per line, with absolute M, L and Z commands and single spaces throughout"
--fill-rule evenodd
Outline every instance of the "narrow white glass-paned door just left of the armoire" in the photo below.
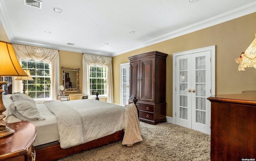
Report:
M 129 99 L 130 63 L 120 64 L 120 105 L 124 106 Z

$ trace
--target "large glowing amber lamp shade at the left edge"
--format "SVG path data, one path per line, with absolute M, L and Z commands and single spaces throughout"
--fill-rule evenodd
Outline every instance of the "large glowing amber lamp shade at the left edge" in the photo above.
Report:
M 0 41 L 0 76 L 28 76 L 20 66 L 12 44 Z

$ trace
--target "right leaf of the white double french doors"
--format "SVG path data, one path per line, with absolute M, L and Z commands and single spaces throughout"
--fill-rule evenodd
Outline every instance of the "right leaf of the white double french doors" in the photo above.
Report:
M 191 54 L 192 129 L 210 134 L 210 51 Z

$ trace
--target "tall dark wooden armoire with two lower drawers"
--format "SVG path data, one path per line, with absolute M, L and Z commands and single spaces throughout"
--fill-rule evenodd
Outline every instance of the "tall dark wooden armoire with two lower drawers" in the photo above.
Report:
M 128 57 L 130 60 L 130 99 L 136 95 L 140 121 L 166 122 L 166 57 L 152 51 Z

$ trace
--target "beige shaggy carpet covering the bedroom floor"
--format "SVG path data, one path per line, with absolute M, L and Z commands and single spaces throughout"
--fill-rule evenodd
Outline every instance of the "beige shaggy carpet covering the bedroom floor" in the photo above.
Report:
M 209 161 L 210 135 L 170 123 L 140 122 L 143 141 L 110 143 L 58 161 Z

